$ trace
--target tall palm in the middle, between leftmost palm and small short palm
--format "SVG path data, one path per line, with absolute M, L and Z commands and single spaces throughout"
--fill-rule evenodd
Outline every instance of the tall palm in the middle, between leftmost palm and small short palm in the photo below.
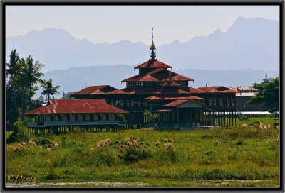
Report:
M 42 82 L 40 78 L 43 76 L 43 73 L 40 72 L 40 70 L 43 67 L 44 65 L 38 61 L 36 61 L 33 64 L 33 57 L 31 57 L 31 55 L 29 55 L 26 58 L 26 67 L 24 68 L 24 76 L 26 77 L 26 84 L 28 87 L 28 107 L 31 106 L 32 89 L 36 88 L 33 87 L 33 84 L 36 84 L 37 82 Z

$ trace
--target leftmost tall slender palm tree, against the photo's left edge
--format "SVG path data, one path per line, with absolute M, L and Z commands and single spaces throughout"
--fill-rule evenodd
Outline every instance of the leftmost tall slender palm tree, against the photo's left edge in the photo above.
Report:
M 11 84 L 15 109 L 17 108 L 17 103 L 16 103 L 16 75 L 19 75 L 19 71 L 20 71 L 19 61 L 20 61 L 20 57 L 19 57 L 18 53 L 16 53 L 16 50 L 11 50 L 10 63 L 6 63 L 6 66 L 8 67 L 6 69 L 6 76 L 8 77 L 8 75 L 10 75 L 9 81 Z

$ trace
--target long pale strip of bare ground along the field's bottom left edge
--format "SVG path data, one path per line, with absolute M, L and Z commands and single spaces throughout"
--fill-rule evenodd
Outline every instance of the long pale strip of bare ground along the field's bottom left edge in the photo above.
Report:
M 84 185 L 103 186 L 103 187 L 123 187 L 123 186 L 144 186 L 142 182 L 24 182 L 24 183 L 7 183 L 6 187 L 70 187 Z

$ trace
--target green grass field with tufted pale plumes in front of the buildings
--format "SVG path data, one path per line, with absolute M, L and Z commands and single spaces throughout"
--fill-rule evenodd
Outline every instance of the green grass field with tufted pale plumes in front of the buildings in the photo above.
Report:
M 271 126 L 27 135 L 36 145 L 7 145 L 8 182 L 28 182 L 15 180 L 21 175 L 36 177 L 34 182 L 147 187 L 279 185 L 279 128 Z

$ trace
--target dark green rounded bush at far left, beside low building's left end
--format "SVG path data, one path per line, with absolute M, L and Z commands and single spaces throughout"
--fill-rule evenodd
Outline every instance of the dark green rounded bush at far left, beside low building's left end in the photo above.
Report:
M 7 138 L 7 143 L 28 141 L 29 138 L 25 133 L 25 127 L 21 121 L 16 121 L 13 125 L 13 133 Z

